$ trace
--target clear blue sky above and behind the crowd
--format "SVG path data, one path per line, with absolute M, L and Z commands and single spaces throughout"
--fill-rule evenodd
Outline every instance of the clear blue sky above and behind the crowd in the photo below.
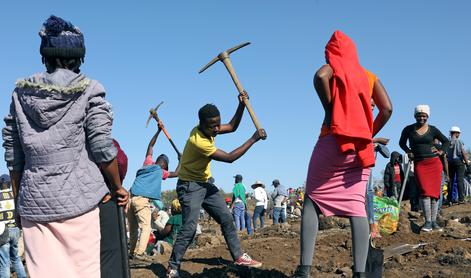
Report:
M 165 102 L 159 114 L 181 151 L 202 105 L 216 104 L 222 121 L 229 121 L 237 91 L 226 69 L 218 63 L 203 74 L 198 70 L 219 52 L 250 41 L 232 63 L 268 139 L 232 164 L 213 162 L 213 176 L 226 191 L 237 173 L 247 187 L 275 178 L 300 186 L 323 118 L 312 77 L 337 29 L 356 42 L 362 65 L 392 99 L 393 116 L 379 134 L 391 138 L 391 150 L 399 149 L 417 104 L 431 106 L 430 123 L 445 135 L 458 125 L 471 144 L 470 12 L 467 0 L 1 1 L 0 115 L 8 112 L 15 80 L 44 70 L 38 36 L 44 20 L 51 14 L 70 20 L 85 35 L 82 72 L 105 86 L 113 104 L 113 136 L 129 158 L 129 187 L 156 130 L 155 123 L 145 128 L 149 108 Z M 254 130 L 245 112 L 239 129 L 218 136 L 216 145 L 232 151 Z M 156 144 L 161 152 L 173 169 L 177 158 L 163 134 Z M 378 160 L 375 176 L 385 163 Z M 0 163 L 0 173 L 6 171 Z M 167 180 L 163 190 L 175 184 Z

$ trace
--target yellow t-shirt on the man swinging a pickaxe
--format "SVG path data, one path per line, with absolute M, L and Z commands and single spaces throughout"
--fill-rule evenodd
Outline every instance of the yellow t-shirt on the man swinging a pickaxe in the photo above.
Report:
M 183 150 L 178 178 L 185 181 L 208 181 L 211 177 L 210 156 L 216 150 L 214 137 L 207 138 L 198 126 L 194 127 Z

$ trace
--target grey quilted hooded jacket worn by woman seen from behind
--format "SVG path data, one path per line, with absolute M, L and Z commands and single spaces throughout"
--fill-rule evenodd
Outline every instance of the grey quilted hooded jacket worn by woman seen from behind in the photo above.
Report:
M 100 83 L 66 69 L 16 83 L 2 135 L 8 168 L 23 173 L 21 217 L 51 222 L 79 216 L 108 192 L 96 165 L 117 154 L 104 96 Z

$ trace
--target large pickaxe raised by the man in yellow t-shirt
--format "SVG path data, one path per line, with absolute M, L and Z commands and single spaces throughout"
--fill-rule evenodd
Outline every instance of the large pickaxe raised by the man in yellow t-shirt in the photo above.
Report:
M 250 44 L 250 42 L 246 42 L 246 43 L 234 46 L 232 48 L 229 48 L 228 50 L 226 50 L 224 52 L 219 53 L 219 55 L 216 56 L 214 59 L 212 59 L 211 62 L 209 62 L 206 66 L 204 66 L 199 71 L 199 73 L 202 73 L 203 71 L 205 71 L 207 68 L 212 66 L 217 61 L 221 61 L 226 66 L 227 71 L 229 71 L 229 74 L 231 75 L 232 81 L 234 81 L 234 84 L 236 85 L 237 91 L 239 91 L 239 94 L 242 94 L 244 92 L 244 88 L 242 87 L 242 84 L 240 83 L 239 79 L 237 78 L 237 75 L 234 71 L 234 68 L 232 67 L 231 60 L 229 59 L 229 55 L 232 52 L 234 52 L 234 51 L 236 51 L 236 50 L 238 50 L 238 49 L 240 49 L 244 46 L 247 46 L 249 44 Z M 255 124 L 255 128 L 258 131 L 261 131 L 262 127 L 260 126 L 260 123 L 258 122 L 257 117 L 255 116 L 255 113 L 252 110 L 252 106 L 250 105 L 250 102 L 247 98 L 244 98 L 244 104 L 245 104 L 245 107 L 247 107 L 247 111 L 249 111 L 249 114 L 250 114 L 250 117 L 252 118 L 253 123 Z M 263 132 L 263 134 L 260 134 L 260 136 L 262 137 L 263 140 L 265 140 L 267 138 L 267 135 L 266 135 L 265 132 Z

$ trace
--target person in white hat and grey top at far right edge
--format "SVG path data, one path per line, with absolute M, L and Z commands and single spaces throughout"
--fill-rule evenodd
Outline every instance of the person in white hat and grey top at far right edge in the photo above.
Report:
M 453 184 L 456 180 L 458 185 L 458 202 L 464 202 L 464 172 L 465 165 L 468 164 L 468 155 L 464 149 L 463 142 L 459 139 L 461 130 L 457 126 L 450 128 L 450 147 L 448 148 L 448 171 L 450 172 L 450 186 L 448 190 L 447 201 L 452 204 L 452 190 Z

